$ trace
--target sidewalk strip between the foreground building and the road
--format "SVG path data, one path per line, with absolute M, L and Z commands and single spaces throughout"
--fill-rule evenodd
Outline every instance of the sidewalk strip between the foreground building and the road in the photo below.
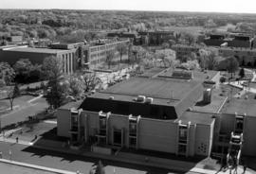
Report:
M 15 143 L 14 139 L 8 138 L 3 139 L 3 137 L 0 137 L 0 141 L 9 142 L 9 143 Z M 126 152 L 119 152 L 117 155 L 105 155 L 101 153 L 91 152 L 91 151 L 80 151 L 70 148 L 51 148 L 46 146 L 38 146 L 36 144 L 31 144 L 30 142 L 25 141 L 19 141 L 18 144 L 26 145 L 26 146 L 33 146 L 34 148 L 42 148 L 52 151 L 58 151 L 65 154 L 74 154 L 74 155 L 82 155 L 85 157 L 91 157 L 91 158 L 100 158 L 104 160 L 112 160 L 112 161 L 118 161 L 122 163 L 128 163 L 128 164 L 134 164 L 134 165 L 146 165 L 146 166 L 153 166 L 153 167 L 159 167 L 159 168 L 165 168 L 174 170 L 177 172 L 194 172 L 194 173 L 201 173 L 201 174 L 229 174 L 229 170 L 227 171 L 216 171 L 216 170 L 210 170 L 210 169 L 204 169 L 197 167 L 196 164 L 191 162 L 184 162 L 184 161 L 176 161 L 171 159 L 163 159 L 163 158 L 157 158 L 153 156 L 145 156 L 145 155 L 139 155 L 134 153 L 126 153 Z M 149 160 L 145 161 L 145 157 L 147 157 Z M 238 173 L 243 173 L 243 167 L 239 166 L 237 169 Z M 250 174 L 252 172 L 246 172 L 245 174 Z

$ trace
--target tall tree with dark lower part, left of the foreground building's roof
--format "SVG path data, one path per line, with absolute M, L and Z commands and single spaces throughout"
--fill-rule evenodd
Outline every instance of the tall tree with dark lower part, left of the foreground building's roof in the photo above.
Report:
M 62 61 L 51 56 L 43 62 L 43 74 L 48 80 L 46 101 L 54 109 L 62 106 L 68 95 L 68 82 L 65 80 L 62 70 Z

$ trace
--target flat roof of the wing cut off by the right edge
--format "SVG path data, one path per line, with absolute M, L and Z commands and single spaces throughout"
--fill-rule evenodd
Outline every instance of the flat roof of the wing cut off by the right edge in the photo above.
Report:
M 240 114 L 250 116 L 256 116 L 256 100 L 255 99 L 239 99 L 239 98 L 232 98 L 229 103 L 221 110 L 221 113 L 228 113 L 228 114 Z

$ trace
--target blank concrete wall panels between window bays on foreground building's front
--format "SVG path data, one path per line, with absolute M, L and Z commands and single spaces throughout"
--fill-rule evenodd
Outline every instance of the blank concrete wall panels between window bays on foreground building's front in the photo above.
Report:
M 58 135 L 70 137 L 70 116 L 68 110 L 58 110 Z M 85 121 L 87 120 L 87 124 Z M 81 127 L 84 127 L 84 133 L 88 136 L 97 134 L 99 127 L 99 113 L 83 111 L 81 113 Z M 109 120 L 109 137 L 108 142 L 112 143 L 112 130 L 124 130 L 124 146 L 128 147 L 128 115 L 110 114 Z M 176 153 L 177 150 L 177 123 L 174 120 L 156 120 L 149 118 L 140 118 L 138 125 L 138 148 L 149 149 L 155 151 L 163 151 Z M 189 155 L 209 155 L 212 144 L 213 135 L 212 125 L 191 125 L 190 127 L 190 142 Z M 88 138 L 88 137 L 87 137 Z M 204 151 L 205 150 L 205 151 Z

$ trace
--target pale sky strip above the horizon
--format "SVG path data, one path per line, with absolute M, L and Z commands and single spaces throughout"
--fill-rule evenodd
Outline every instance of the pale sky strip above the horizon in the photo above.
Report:
M 256 0 L 0 0 L 0 9 L 132 9 L 256 13 Z

